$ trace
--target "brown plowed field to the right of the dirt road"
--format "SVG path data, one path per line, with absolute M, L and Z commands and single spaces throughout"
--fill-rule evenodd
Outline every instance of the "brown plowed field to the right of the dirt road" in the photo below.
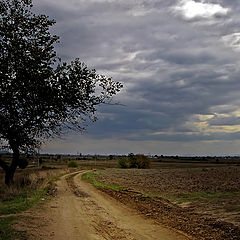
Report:
M 240 167 L 106 169 L 102 189 L 145 216 L 197 239 L 240 239 Z

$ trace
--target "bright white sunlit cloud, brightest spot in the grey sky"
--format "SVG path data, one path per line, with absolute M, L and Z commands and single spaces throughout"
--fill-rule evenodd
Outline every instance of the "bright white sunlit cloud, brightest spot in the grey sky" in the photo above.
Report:
M 226 15 L 229 12 L 228 8 L 224 8 L 219 4 L 207 3 L 205 1 L 195 2 L 193 0 L 181 0 L 174 7 L 174 10 L 190 20 L 194 18 L 212 18 L 216 15 Z

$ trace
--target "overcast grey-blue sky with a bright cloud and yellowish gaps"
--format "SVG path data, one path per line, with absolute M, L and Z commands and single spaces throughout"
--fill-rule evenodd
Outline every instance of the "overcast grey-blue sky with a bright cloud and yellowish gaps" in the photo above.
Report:
M 99 108 L 51 153 L 240 154 L 240 2 L 35 0 L 57 21 L 65 61 L 124 84 L 125 106 Z

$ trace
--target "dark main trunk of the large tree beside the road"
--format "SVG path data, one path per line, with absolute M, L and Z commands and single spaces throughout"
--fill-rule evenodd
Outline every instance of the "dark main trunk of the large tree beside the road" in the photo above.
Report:
M 13 184 L 14 174 L 18 166 L 19 157 L 20 157 L 19 149 L 17 147 L 13 148 L 12 150 L 13 150 L 13 159 L 12 159 L 11 165 L 7 169 L 5 169 L 5 184 L 8 186 Z

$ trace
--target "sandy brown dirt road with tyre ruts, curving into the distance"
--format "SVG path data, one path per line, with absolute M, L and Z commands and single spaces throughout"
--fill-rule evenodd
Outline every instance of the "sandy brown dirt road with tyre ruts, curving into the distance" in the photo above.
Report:
M 57 182 L 57 197 L 47 207 L 43 239 L 53 240 L 186 240 L 187 237 L 139 216 L 89 183 L 84 172 Z

